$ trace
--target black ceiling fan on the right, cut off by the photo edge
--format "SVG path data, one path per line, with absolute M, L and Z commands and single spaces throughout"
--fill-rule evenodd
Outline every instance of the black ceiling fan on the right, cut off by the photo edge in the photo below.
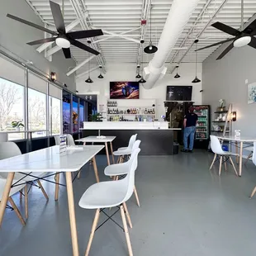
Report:
M 241 1 L 241 10 L 242 10 L 242 15 L 241 15 L 241 31 L 231 27 L 227 26 L 224 23 L 221 22 L 215 22 L 211 26 L 215 27 L 216 29 L 223 31 L 231 36 L 234 36 L 232 38 L 229 38 L 227 40 L 222 40 L 218 43 L 212 44 L 212 45 L 207 45 L 205 47 L 202 47 L 197 50 L 204 50 L 207 48 L 210 48 L 212 46 L 216 45 L 222 45 L 226 42 L 232 41 L 232 43 L 221 53 L 221 55 L 217 59 L 222 59 L 230 50 L 233 49 L 233 47 L 241 47 L 244 45 L 249 45 L 253 48 L 256 49 L 256 19 L 249 24 L 249 26 L 246 26 L 243 30 L 243 24 L 244 24 L 244 15 L 243 15 L 243 3 L 244 1 Z

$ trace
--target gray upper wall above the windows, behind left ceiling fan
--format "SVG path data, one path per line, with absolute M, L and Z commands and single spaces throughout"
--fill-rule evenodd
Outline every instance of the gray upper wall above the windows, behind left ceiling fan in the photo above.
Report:
M 44 32 L 7 18 L 7 13 L 44 26 L 25 0 L 0 0 L 0 45 L 12 51 L 21 59 L 31 60 L 34 66 L 43 73 L 55 72 L 57 80 L 60 83 L 66 83 L 69 90 L 75 92 L 74 75 L 70 77 L 66 75 L 69 67 L 76 65 L 73 59 L 64 59 L 62 50 L 53 55 L 52 62 L 45 59 L 44 53 L 36 51 L 39 45 L 26 45 L 29 41 L 44 38 Z

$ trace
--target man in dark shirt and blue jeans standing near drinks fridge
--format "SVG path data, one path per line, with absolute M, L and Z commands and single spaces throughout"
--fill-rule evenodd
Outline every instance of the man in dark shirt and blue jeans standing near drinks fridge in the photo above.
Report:
M 183 126 L 183 149 L 182 152 L 192 153 L 197 126 L 197 114 L 194 113 L 194 107 L 189 107 L 187 115 L 184 116 Z M 187 137 L 189 136 L 189 148 L 187 149 Z

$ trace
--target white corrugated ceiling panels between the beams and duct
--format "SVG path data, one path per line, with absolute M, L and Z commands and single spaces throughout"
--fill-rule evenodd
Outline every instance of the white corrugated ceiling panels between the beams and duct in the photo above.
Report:
M 54 24 L 48 0 L 26 0 L 26 2 L 37 12 L 42 21 L 48 24 Z M 64 2 L 64 21 L 66 26 L 77 19 L 77 14 L 74 10 L 74 2 L 77 2 L 78 7 L 83 11 L 84 17 L 87 18 L 88 26 L 101 28 L 104 31 L 116 34 L 134 30 L 123 35 L 126 36 L 126 39 L 121 37 L 111 37 L 107 39 L 110 35 L 104 33 L 104 36 L 98 37 L 95 40 L 101 40 L 97 45 L 98 49 L 101 51 L 102 61 L 105 64 L 137 63 L 139 44 L 133 40 L 140 41 L 142 33 L 140 26 L 141 17 L 143 17 L 142 12 L 145 12 L 145 6 L 147 4 L 149 5 L 150 0 L 55 0 L 55 2 L 58 2 L 60 5 Z M 152 0 L 152 40 L 155 45 L 158 43 L 172 2 L 172 0 Z M 215 21 L 220 21 L 239 29 L 241 24 L 241 1 L 228 0 L 223 7 L 221 7 L 223 2 L 223 0 L 201 0 L 175 47 L 187 48 L 191 46 L 198 35 L 200 35 L 199 43 L 197 44 L 198 48 L 229 38 L 225 33 L 211 26 L 206 26 L 209 21 L 211 21 L 209 25 Z M 220 12 L 218 12 L 219 8 Z M 253 17 L 255 12 L 256 1 L 244 0 L 244 22 Z M 212 19 L 215 14 L 216 17 Z M 53 27 L 50 26 L 50 28 Z M 73 28 L 73 31 L 82 29 L 83 27 L 78 24 Z M 201 31 L 203 32 L 201 33 Z M 149 25 L 147 26 L 144 38 L 144 45 L 146 46 L 149 43 Z M 31 40 L 33 40 L 32 35 Z M 86 43 L 87 40 L 81 41 Z M 199 51 L 197 61 L 202 62 L 207 56 L 211 55 L 217 47 L 218 46 Z M 72 47 L 71 51 L 73 59 L 75 59 L 78 64 L 88 58 L 88 53 L 83 50 Z M 179 63 L 181 60 L 182 62 L 195 62 L 194 46 L 184 55 L 186 51 L 186 49 L 172 50 L 168 55 L 167 62 Z M 151 58 L 151 55 L 144 54 L 143 56 L 144 62 L 149 61 Z M 97 60 L 93 59 L 92 62 L 96 64 Z M 84 67 L 80 69 L 78 73 L 82 71 L 84 71 Z

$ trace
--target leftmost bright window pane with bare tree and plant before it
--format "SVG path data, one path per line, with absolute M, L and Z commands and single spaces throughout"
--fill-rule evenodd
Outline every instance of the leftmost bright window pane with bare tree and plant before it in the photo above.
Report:
M 21 121 L 24 125 L 24 86 L 0 78 L 0 130 L 15 130 L 12 121 Z M 10 133 L 8 140 L 24 139 L 23 133 Z

